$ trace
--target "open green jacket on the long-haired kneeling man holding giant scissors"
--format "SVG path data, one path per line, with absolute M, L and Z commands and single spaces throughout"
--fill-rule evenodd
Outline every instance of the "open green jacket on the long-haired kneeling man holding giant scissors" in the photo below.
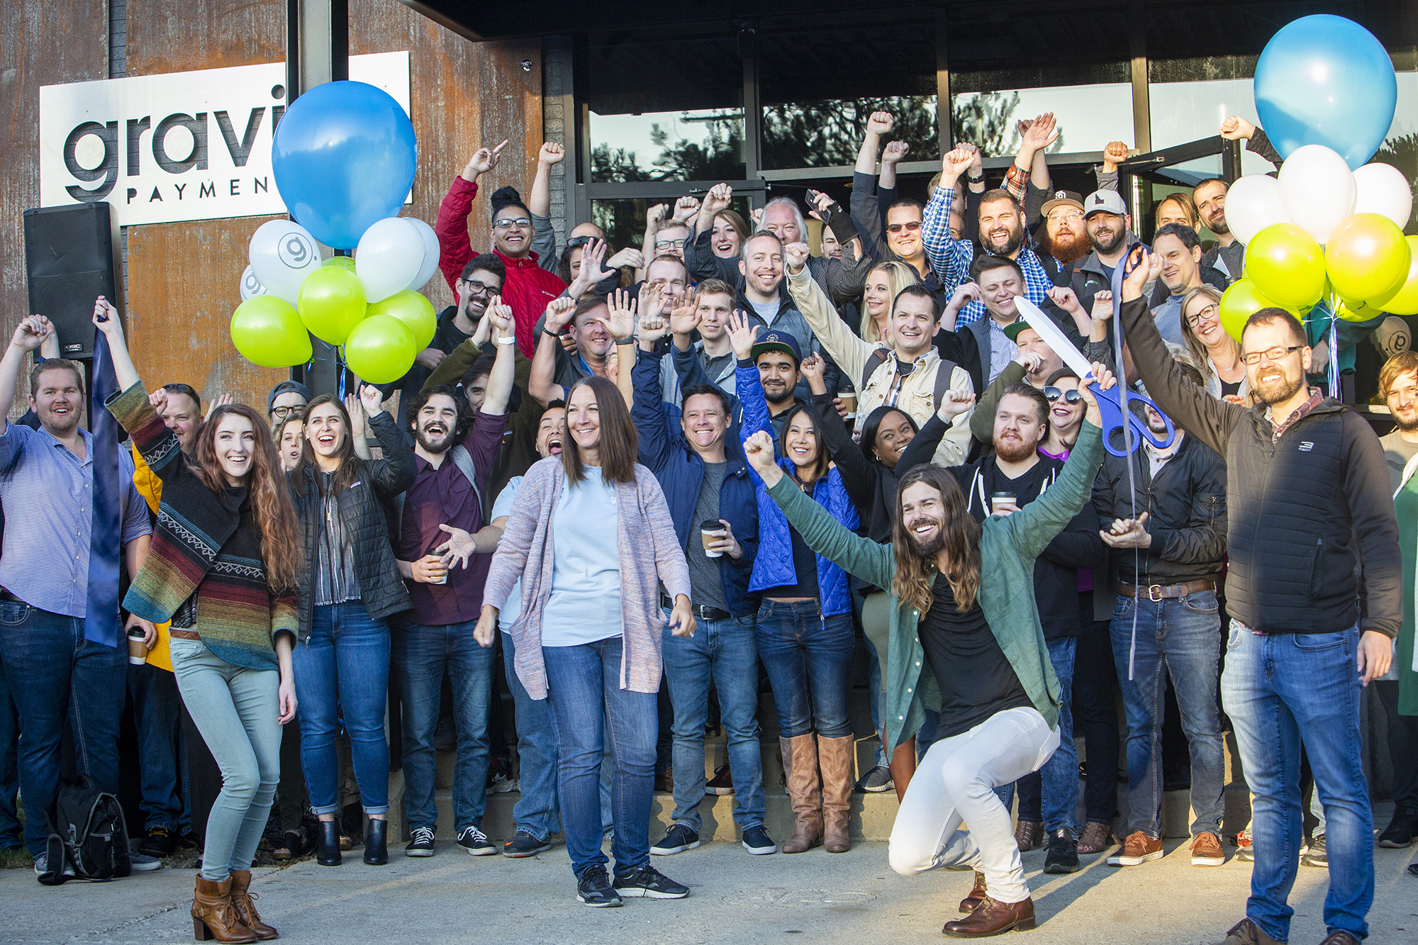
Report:
M 1034 559 L 1089 501 L 1102 460 L 1102 433 L 1085 421 L 1058 481 L 1014 515 L 987 518 L 980 536 L 980 609 L 1049 728 L 1059 721 L 1059 682 L 1034 603 Z M 892 586 L 891 545 L 852 534 L 787 477 L 769 495 L 814 552 L 866 583 Z M 892 604 L 885 660 L 888 755 L 916 734 L 927 708 L 940 708 L 940 690 L 916 636 L 920 614 L 895 592 Z

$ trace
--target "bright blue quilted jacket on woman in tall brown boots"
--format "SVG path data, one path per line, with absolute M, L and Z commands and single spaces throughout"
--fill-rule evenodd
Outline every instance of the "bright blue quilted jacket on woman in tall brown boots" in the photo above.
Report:
M 735 385 L 739 387 L 739 400 L 743 403 L 743 438 L 763 430 L 773 436 L 769 423 L 769 402 L 763 399 L 763 385 L 759 382 L 759 369 L 752 362 L 739 362 Z M 811 416 L 811 414 L 810 414 Z M 827 448 L 827 443 L 820 437 L 820 447 Z M 780 458 L 778 465 L 791 475 L 794 465 L 791 460 Z M 749 477 L 757 491 L 759 499 L 759 551 L 761 552 L 753 565 L 753 580 L 749 590 L 766 590 L 769 587 L 783 587 L 797 583 L 797 573 L 793 570 L 793 536 L 788 532 L 788 519 L 783 509 L 769 498 L 763 480 L 752 468 Z M 832 518 L 844 526 L 856 531 L 859 519 L 856 507 L 852 505 L 842 477 L 835 468 L 813 484 L 813 498 L 825 508 Z M 848 586 L 847 572 L 828 559 L 817 555 L 817 587 L 821 595 L 822 616 L 835 617 L 852 612 L 852 592 Z

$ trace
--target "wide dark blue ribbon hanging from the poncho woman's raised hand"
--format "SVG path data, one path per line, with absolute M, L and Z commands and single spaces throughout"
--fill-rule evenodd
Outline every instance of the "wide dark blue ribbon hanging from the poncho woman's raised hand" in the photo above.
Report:
M 122 501 L 118 477 L 118 421 L 105 402 L 118 393 L 118 375 L 108 350 L 108 338 L 95 329 L 94 382 L 89 392 L 89 443 L 94 468 L 94 518 L 89 529 L 88 599 L 84 607 L 84 639 L 116 647 L 121 634 L 118 569 L 123 555 Z

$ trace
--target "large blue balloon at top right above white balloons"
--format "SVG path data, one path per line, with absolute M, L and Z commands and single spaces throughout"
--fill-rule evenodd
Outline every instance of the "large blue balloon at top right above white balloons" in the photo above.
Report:
M 1324 145 L 1353 170 L 1384 143 L 1397 104 L 1388 52 L 1344 17 L 1324 13 L 1286 24 L 1255 67 L 1255 111 L 1282 158 L 1300 145 Z

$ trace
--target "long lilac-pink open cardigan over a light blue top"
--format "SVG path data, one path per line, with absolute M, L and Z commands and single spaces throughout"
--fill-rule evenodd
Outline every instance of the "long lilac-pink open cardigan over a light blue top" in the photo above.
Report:
M 552 511 L 563 488 L 566 470 L 560 457 L 540 460 L 527 470 L 482 593 L 484 604 L 501 609 L 512 586 L 522 580 L 522 614 L 509 633 L 518 648 L 518 678 L 535 700 L 546 698 L 542 612 L 552 595 Z M 620 684 L 632 692 L 658 692 L 664 665 L 659 643 L 665 629 L 659 583 L 664 582 L 671 597 L 689 596 L 689 566 L 654 472 L 637 464 L 634 484 L 615 484 L 615 502 L 625 654 Z

